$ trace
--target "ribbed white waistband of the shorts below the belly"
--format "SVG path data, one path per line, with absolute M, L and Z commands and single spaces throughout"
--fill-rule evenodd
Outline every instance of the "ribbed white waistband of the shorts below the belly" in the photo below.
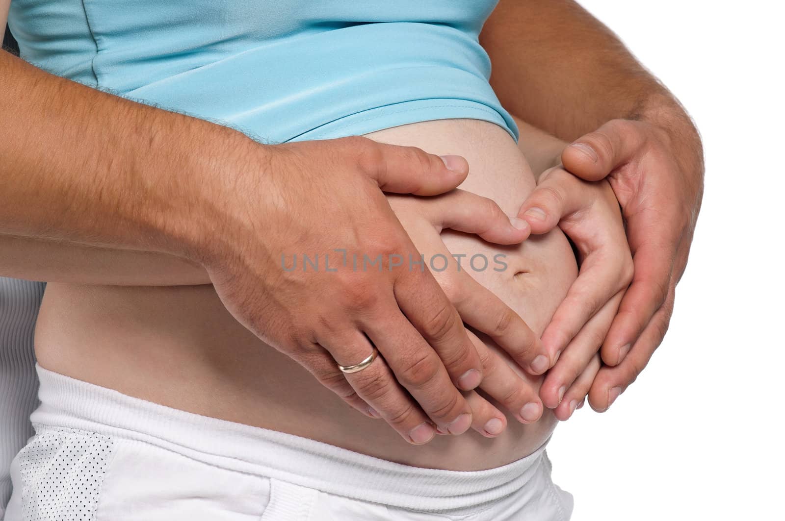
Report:
M 543 465 L 545 444 L 482 471 L 400 465 L 313 439 L 192 414 L 123 395 L 36 365 L 41 406 L 33 424 L 136 439 L 198 461 L 265 475 L 362 501 L 449 512 L 498 501 Z

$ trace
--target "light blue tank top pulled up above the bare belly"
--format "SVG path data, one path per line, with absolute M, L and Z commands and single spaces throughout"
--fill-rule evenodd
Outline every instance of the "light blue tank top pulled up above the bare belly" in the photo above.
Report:
M 518 129 L 477 41 L 498 0 L 13 0 L 20 56 L 263 143 L 442 118 Z

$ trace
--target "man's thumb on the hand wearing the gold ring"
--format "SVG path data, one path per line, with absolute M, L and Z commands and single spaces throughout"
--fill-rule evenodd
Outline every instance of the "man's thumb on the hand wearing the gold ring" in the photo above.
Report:
M 469 163 L 460 155 L 440 157 L 422 148 L 361 139 L 369 143 L 360 152 L 360 164 L 382 191 L 439 195 L 458 187 L 469 175 Z

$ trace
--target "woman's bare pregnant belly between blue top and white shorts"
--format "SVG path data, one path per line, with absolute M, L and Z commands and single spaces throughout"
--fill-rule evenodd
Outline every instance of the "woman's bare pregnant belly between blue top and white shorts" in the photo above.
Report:
M 438 120 L 368 134 L 437 154 L 459 154 L 471 173 L 462 185 L 514 213 L 534 187 L 531 170 L 504 129 L 470 119 Z M 506 253 L 509 268 L 470 271 L 541 333 L 577 272 L 560 231 L 499 247 L 445 233 L 447 247 L 471 257 Z M 411 446 L 384 421 L 363 417 L 311 374 L 245 330 L 213 287 L 87 286 L 50 283 L 35 331 L 38 363 L 49 370 L 196 414 L 316 439 L 406 465 L 478 470 L 531 454 L 556 423 L 495 439 L 469 431 Z M 539 385 L 539 380 L 531 380 Z

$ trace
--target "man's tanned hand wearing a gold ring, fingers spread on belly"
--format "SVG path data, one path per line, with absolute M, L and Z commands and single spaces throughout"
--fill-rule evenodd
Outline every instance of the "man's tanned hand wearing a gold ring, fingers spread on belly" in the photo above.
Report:
M 458 389 L 476 388 L 483 365 L 383 193 L 449 191 L 466 161 L 447 156 L 451 170 L 418 148 L 363 137 L 253 144 L 239 155 L 241 173 L 212 198 L 225 201 L 217 228 L 195 252 L 228 311 L 411 443 L 429 441 L 433 425 L 466 432 L 472 410 Z M 500 210 L 480 223 L 495 242 L 528 235 Z M 374 346 L 370 366 L 338 370 Z

